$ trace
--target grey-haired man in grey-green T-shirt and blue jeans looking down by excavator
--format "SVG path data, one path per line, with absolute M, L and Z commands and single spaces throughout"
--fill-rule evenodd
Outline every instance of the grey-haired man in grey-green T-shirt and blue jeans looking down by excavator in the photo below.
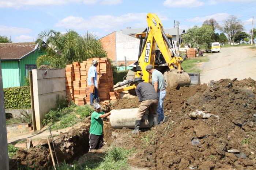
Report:
M 152 84 L 154 86 L 155 92 L 158 94 L 159 103 L 157 107 L 157 113 L 158 113 L 158 122 L 162 122 L 164 119 L 163 115 L 163 100 L 166 96 L 166 90 L 165 90 L 165 80 L 163 78 L 163 74 L 154 69 L 154 67 L 151 64 L 148 64 L 146 66 L 146 71 L 152 75 Z

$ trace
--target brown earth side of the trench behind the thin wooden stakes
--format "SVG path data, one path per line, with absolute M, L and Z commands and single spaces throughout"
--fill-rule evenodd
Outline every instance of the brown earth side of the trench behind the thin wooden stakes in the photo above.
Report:
M 67 163 L 72 162 L 89 151 L 89 128 L 90 119 L 86 119 L 79 128 L 72 128 L 67 133 L 60 133 L 59 136 L 53 137 L 59 162 L 64 162 L 64 160 Z M 41 139 L 38 143 L 40 145 L 31 147 L 29 150 L 19 150 L 16 157 L 9 161 L 10 169 L 17 169 L 17 163 L 19 166 L 39 169 L 51 167 L 52 160 L 47 140 Z

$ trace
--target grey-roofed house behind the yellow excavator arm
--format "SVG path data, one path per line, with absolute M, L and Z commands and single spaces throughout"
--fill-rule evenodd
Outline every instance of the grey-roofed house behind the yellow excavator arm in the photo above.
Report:
M 172 40 L 176 40 L 177 29 L 176 28 L 164 28 L 166 34 L 172 35 Z M 135 37 L 136 33 L 147 32 L 147 28 L 128 28 L 121 29 L 120 33 Z M 181 35 L 185 33 L 185 29 L 179 29 L 179 43 L 183 42 Z

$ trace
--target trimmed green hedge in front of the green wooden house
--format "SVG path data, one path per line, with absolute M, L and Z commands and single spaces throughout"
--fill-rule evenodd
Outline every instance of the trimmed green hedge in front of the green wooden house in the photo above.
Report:
M 31 108 L 29 86 L 4 88 L 5 109 Z

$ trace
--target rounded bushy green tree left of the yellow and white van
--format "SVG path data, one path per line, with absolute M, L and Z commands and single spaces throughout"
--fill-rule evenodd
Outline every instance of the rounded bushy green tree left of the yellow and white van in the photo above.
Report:
M 182 39 L 185 43 L 191 44 L 191 47 L 195 47 L 199 51 L 207 47 L 208 43 L 212 40 L 213 34 L 214 31 L 210 25 L 194 26 L 182 35 Z

